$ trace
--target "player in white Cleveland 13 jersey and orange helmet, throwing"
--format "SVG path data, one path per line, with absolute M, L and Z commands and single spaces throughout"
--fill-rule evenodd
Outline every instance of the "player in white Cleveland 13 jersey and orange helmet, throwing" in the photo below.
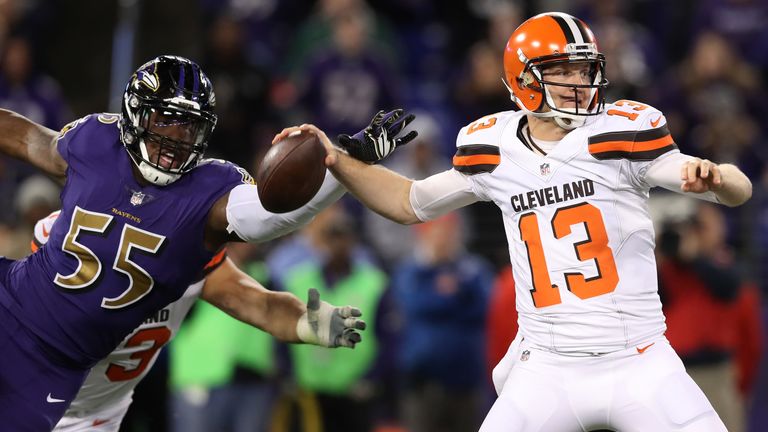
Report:
M 501 209 L 520 329 L 482 432 L 725 430 L 664 337 L 647 200 L 660 186 L 737 206 L 752 185 L 733 165 L 681 153 L 655 108 L 606 105 L 604 66 L 584 22 L 537 15 L 504 52 L 518 110 L 464 127 L 453 169 L 412 181 L 370 165 L 402 144 L 387 116 L 339 137 L 345 151 L 326 159 L 400 223 L 480 200 Z

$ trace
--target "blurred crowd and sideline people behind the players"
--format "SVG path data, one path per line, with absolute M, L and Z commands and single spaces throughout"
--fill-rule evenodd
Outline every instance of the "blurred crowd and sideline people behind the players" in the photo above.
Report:
M 656 191 L 652 211 L 672 345 L 729 430 L 768 430 L 766 0 L 0 0 L 0 107 L 59 129 L 118 111 L 132 70 L 178 54 L 214 84 L 208 156 L 253 171 L 285 126 L 333 137 L 405 107 L 419 138 L 386 164 L 423 178 L 450 167 L 462 126 L 511 109 L 504 45 L 549 10 L 594 30 L 609 101 L 661 109 L 682 151 L 752 180 L 743 207 Z M 0 254 L 26 255 L 33 224 L 58 205 L 55 184 L 0 159 Z M 364 343 L 279 346 L 198 306 L 124 429 L 477 430 L 516 329 L 501 230 L 492 205 L 414 228 L 345 198 L 296 235 L 231 246 L 272 289 L 315 286 L 362 307 Z

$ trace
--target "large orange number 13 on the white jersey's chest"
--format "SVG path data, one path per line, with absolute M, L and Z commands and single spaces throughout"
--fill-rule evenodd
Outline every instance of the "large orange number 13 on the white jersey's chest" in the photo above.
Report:
M 585 278 L 581 273 L 565 273 L 565 281 L 569 291 L 585 300 L 613 292 L 619 283 L 619 274 L 613 252 L 608 246 L 603 217 L 597 207 L 581 203 L 558 209 L 552 218 L 555 238 L 561 239 L 569 235 L 571 227 L 580 223 L 584 224 L 587 239 L 573 245 L 576 257 L 580 261 L 594 260 L 597 276 Z M 527 213 L 521 216 L 519 227 L 520 236 L 528 249 L 528 262 L 533 279 L 533 304 L 541 308 L 561 303 L 559 287 L 552 285 L 549 277 L 536 214 Z

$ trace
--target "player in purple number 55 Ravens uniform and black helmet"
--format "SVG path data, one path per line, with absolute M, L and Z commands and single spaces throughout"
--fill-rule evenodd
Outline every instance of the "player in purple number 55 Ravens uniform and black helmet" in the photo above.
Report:
M 329 174 L 301 209 L 264 210 L 246 171 L 203 159 L 214 106 L 197 64 L 160 56 L 133 74 L 121 114 L 88 115 L 57 133 L 0 110 L 0 152 L 64 185 L 49 242 L 23 260 L 0 259 L 3 428 L 53 428 L 90 368 L 181 297 L 226 242 L 283 235 L 343 194 Z M 408 118 L 390 124 L 393 132 Z M 305 312 L 292 312 L 288 340 L 359 341 L 352 329 L 334 340 L 317 334 L 353 317 L 321 311 L 314 321 Z

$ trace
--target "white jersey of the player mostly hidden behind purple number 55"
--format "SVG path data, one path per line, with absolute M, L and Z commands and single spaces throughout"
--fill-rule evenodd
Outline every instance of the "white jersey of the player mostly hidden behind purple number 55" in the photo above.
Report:
M 37 222 L 32 240 L 33 252 L 48 241 L 58 216 L 56 211 Z M 215 268 L 224 256 L 224 251 L 217 254 L 205 271 Z M 204 283 L 205 279 L 201 279 L 190 285 L 181 298 L 148 317 L 114 351 L 98 362 L 89 372 L 62 422 L 68 418 L 98 417 L 99 413 L 116 406 L 124 406 L 127 410 L 134 388 L 154 365 L 163 346 L 176 335 L 184 317 L 200 297 Z

